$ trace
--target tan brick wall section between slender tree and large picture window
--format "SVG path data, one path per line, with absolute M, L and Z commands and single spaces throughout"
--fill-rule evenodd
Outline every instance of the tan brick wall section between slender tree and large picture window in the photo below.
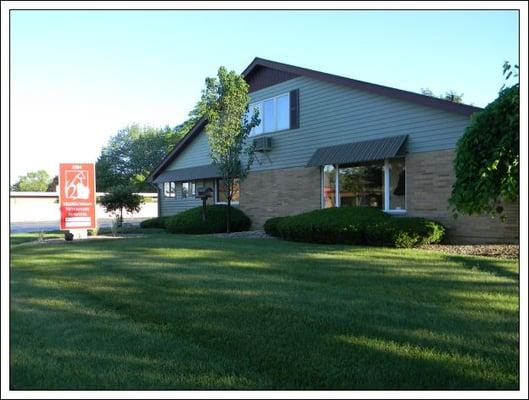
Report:
M 269 218 L 320 208 L 320 185 L 316 167 L 251 172 L 241 184 L 239 207 L 258 229 Z

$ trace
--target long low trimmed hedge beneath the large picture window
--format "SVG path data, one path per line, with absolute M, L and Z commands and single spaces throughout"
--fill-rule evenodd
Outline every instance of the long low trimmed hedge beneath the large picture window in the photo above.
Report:
M 296 242 L 414 247 L 438 243 L 445 230 L 424 218 L 393 217 L 376 208 L 340 207 L 271 218 L 265 232 Z

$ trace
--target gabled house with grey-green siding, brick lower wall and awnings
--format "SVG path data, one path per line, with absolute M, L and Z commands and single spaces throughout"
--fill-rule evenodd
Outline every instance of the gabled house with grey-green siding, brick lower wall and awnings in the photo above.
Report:
M 256 162 L 235 204 L 259 228 L 271 217 L 325 207 L 367 206 L 443 223 L 459 242 L 513 242 L 518 205 L 505 222 L 454 219 L 448 198 L 458 139 L 479 108 L 256 58 L 243 72 L 261 124 L 251 136 Z M 225 202 L 200 120 L 149 180 L 159 213 L 201 204 L 199 186 Z

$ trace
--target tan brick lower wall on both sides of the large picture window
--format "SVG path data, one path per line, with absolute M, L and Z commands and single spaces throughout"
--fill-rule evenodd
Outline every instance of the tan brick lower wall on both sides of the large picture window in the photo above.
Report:
M 517 243 L 518 204 L 505 207 L 505 222 L 485 216 L 452 217 L 448 198 L 455 179 L 454 156 L 454 150 L 407 155 L 407 215 L 441 222 L 447 228 L 447 239 L 451 242 Z M 241 185 L 239 206 L 251 218 L 252 229 L 258 229 L 269 218 L 320 208 L 320 193 L 319 168 L 251 172 Z

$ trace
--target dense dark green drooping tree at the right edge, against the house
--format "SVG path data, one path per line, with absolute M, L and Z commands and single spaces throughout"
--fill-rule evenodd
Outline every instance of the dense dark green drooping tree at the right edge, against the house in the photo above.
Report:
M 510 64 L 503 72 L 506 79 L 511 77 Z M 502 204 L 518 200 L 519 90 L 518 83 L 504 85 L 498 98 L 472 117 L 457 143 L 456 181 L 449 200 L 455 216 L 460 212 L 503 217 Z

